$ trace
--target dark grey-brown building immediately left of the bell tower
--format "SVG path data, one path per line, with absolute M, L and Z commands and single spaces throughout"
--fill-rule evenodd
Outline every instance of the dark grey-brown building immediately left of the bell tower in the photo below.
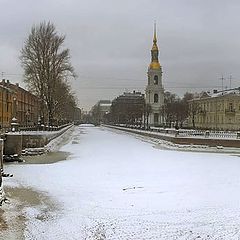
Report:
M 112 101 L 111 120 L 114 123 L 136 124 L 142 121 L 145 99 L 141 92 L 125 92 Z

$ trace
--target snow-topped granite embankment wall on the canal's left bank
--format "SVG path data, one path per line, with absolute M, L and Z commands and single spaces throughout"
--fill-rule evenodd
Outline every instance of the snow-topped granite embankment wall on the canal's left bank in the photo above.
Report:
M 5 134 L 4 154 L 21 154 L 25 148 L 41 148 L 54 138 L 66 132 L 73 125 L 68 125 L 58 131 L 14 132 Z

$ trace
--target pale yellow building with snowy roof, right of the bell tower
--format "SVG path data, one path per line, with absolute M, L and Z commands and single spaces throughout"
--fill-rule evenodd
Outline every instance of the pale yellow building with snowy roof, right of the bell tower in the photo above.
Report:
M 240 130 L 240 88 L 203 92 L 189 101 L 189 109 L 189 127 Z

